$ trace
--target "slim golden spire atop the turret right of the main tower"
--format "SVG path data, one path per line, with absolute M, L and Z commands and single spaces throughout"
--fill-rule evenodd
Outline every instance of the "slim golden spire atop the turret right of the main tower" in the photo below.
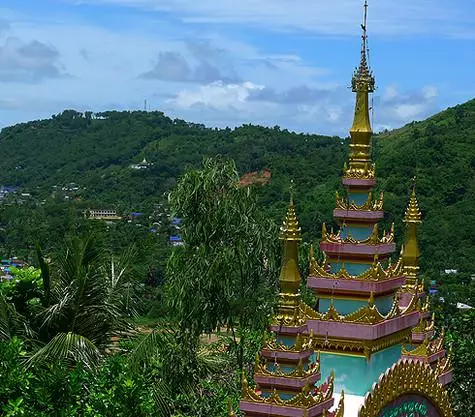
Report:
M 402 262 L 404 265 L 404 275 L 406 276 L 406 285 L 410 286 L 417 286 L 420 255 L 419 245 L 417 243 L 417 225 L 422 222 L 421 217 L 416 198 L 416 179 L 413 178 L 411 197 L 404 216 L 407 236 L 402 250 Z

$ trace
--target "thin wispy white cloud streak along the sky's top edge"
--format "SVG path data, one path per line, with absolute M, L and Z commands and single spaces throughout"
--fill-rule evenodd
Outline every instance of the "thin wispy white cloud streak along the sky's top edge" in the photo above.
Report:
M 68 0 L 66 0 L 68 1 Z M 275 30 L 305 30 L 331 35 L 355 34 L 361 3 L 355 0 L 69 0 L 76 4 L 114 4 L 175 13 L 183 21 L 206 24 L 248 24 Z M 474 34 L 472 0 L 378 0 L 370 2 L 371 33 L 408 35 Z M 472 13 L 470 13 L 472 11 Z

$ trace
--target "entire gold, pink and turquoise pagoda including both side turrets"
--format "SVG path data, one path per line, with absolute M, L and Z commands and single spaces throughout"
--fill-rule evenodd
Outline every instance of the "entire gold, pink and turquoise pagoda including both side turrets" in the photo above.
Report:
M 406 238 L 397 256 L 394 224 L 387 230 L 381 225 L 384 194 L 375 191 L 372 160 L 370 94 L 375 79 L 367 59 L 367 11 L 365 1 L 360 63 L 351 82 L 356 105 L 343 169 L 344 193 L 336 193 L 333 211 L 338 229 L 322 225 L 320 262 L 313 246 L 310 251 L 307 287 L 316 303 L 309 306 L 301 299 L 301 231 L 291 196 L 280 235 L 284 257 L 273 336 L 256 358 L 253 388 L 243 376 L 240 410 L 245 416 L 341 417 L 345 401 L 347 416 L 352 417 L 365 396 L 373 401 L 376 397 L 370 393 L 385 390 L 384 381 L 396 384 L 398 375 L 419 373 L 407 387 L 401 385 L 409 393 L 421 375 L 437 381 L 434 390 L 444 392 L 439 397 L 445 399 L 443 386 L 452 380 L 444 332 L 435 332 L 418 276 L 417 227 L 422 215 L 415 180 L 403 219 Z

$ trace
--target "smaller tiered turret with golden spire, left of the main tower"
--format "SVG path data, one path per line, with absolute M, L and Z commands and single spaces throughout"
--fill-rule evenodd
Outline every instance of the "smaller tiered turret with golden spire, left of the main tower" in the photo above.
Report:
M 307 331 L 306 307 L 300 296 L 298 245 L 300 227 L 293 196 L 281 227 L 284 256 L 280 271 L 278 313 L 271 325 L 272 337 L 256 357 L 251 388 L 243 377 L 240 409 L 245 416 L 333 416 L 343 413 L 343 400 L 335 412 L 334 375 L 320 385 L 320 362 L 312 349 L 312 335 Z

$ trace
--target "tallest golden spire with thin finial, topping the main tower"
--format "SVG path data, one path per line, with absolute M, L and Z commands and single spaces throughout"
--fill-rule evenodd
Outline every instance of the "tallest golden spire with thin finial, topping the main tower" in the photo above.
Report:
M 369 118 L 368 94 L 374 91 L 374 77 L 367 60 L 366 22 L 368 17 L 368 1 L 364 4 L 364 18 L 361 44 L 360 65 L 356 68 L 351 80 L 352 91 L 356 93 L 355 115 L 353 126 L 350 129 L 351 144 L 349 166 L 345 170 L 345 177 L 373 178 L 374 167 L 371 163 L 371 122 Z

